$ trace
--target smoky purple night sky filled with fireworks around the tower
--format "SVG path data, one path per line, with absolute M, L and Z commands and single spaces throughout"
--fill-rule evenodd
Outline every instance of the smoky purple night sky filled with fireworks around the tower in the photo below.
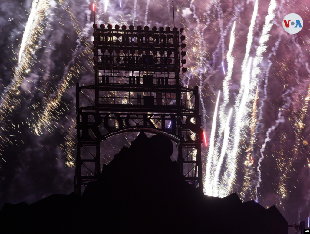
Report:
M 174 5 L 187 44 L 182 82 L 200 88 L 205 193 L 236 192 L 308 226 L 310 3 L 258 0 L 257 14 L 250 0 Z M 0 1 L 0 208 L 73 191 L 75 83 L 94 82 L 92 9 L 89 0 Z M 100 0 L 95 9 L 98 25 L 173 28 L 170 1 Z M 299 33 L 283 29 L 289 13 L 303 19 Z M 136 136 L 103 141 L 102 163 Z

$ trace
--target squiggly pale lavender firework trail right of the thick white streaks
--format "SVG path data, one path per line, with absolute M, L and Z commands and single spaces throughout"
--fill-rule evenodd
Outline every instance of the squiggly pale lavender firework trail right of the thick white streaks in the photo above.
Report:
M 262 148 L 259 150 L 261 156 L 259 157 L 258 167 L 257 167 L 258 181 L 257 181 L 257 184 L 255 186 L 255 201 L 256 202 L 258 202 L 257 190 L 260 187 L 260 182 L 262 182 L 262 171 L 261 171 L 260 167 L 261 167 L 261 163 L 262 163 L 262 161 L 264 159 L 264 154 L 263 153 L 265 151 L 267 142 L 271 141 L 271 139 L 269 137 L 270 136 L 270 132 L 273 131 L 274 129 L 276 129 L 279 126 L 280 123 L 284 123 L 284 121 L 285 121 L 284 116 L 282 116 L 282 110 L 288 108 L 289 102 L 290 102 L 290 98 L 288 98 L 287 95 L 288 95 L 288 93 L 292 93 L 293 90 L 294 90 L 294 88 L 288 89 L 284 94 L 282 94 L 282 98 L 283 98 L 283 100 L 286 100 L 286 103 L 282 106 L 282 108 L 278 112 L 276 124 L 273 125 L 271 128 L 268 128 L 267 133 L 266 133 L 265 141 L 264 141 L 264 143 L 262 145 Z

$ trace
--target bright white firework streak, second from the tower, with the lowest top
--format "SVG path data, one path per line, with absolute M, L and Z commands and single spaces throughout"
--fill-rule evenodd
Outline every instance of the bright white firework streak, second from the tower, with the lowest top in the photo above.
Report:
M 219 196 L 219 174 L 221 172 L 222 164 L 224 162 L 224 157 L 225 157 L 225 153 L 226 153 L 226 149 L 227 149 L 227 145 L 228 145 L 228 137 L 229 137 L 229 132 L 230 132 L 229 121 L 230 121 L 230 117 L 232 115 L 232 110 L 233 110 L 233 108 L 230 109 L 229 114 L 228 114 L 228 118 L 226 121 L 225 132 L 224 132 L 224 143 L 222 146 L 222 151 L 221 151 L 221 156 L 219 158 L 219 162 L 216 165 L 215 177 L 213 180 L 213 184 L 215 186 L 213 196 L 215 196 L 215 197 Z

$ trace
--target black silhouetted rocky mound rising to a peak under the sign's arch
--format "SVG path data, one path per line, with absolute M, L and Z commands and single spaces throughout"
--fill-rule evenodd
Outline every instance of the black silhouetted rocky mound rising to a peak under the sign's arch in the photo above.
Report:
M 1 233 L 287 233 L 275 206 L 200 194 L 172 162 L 171 141 L 143 132 L 123 147 L 83 196 L 53 194 L 6 203 Z

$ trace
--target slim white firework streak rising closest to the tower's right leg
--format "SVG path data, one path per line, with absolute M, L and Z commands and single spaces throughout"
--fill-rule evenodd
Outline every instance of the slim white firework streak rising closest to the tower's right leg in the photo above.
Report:
M 213 162 L 219 161 L 219 158 L 216 157 L 218 155 L 213 154 L 214 150 L 214 138 L 215 138 L 215 130 L 216 130 L 216 119 L 217 119 L 217 109 L 219 105 L 219 97 L 220 97 L 221 91 L 219 91 L 219 94 L 217 96 L 216 104 L 215 104 L 215 110 L 213 114 L 213 121 L 212 121 L 212 129 L 211 129 L 211 135 L 210 135 L 210 148 L 208 152 L 207 157 L 207 167 L 206 167 L 206 177 L 205 177 L 205 194 L 211 196 L 212 195 L 212 186 L 211 182 L 214 178 L 214 171 L 211 170 Z

